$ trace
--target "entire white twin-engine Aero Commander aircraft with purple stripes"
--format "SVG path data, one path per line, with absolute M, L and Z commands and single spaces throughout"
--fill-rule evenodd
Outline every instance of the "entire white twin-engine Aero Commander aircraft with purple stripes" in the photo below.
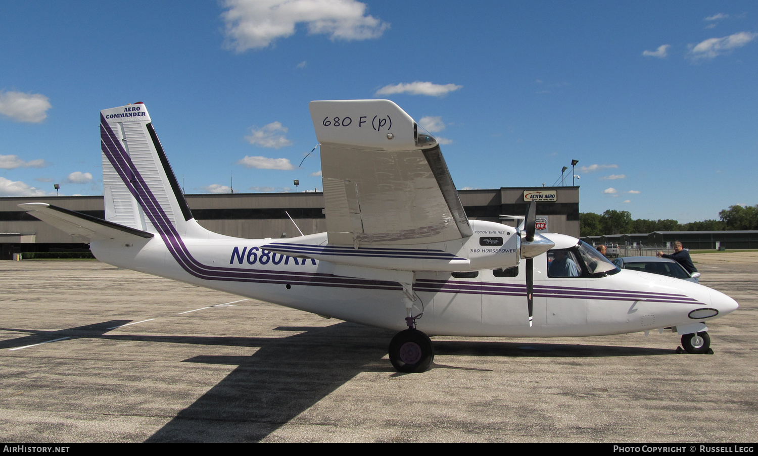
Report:
M 311 102 L 310 109 L 327 233 L 239 239 L 205 230 L 142 103 L 100 113 L 105 220 L 45 203 L 20 206 L 118 267 L 398 330 L 389 352 L 402 372 L 431 364 L 425 333 L 671 329 L 688 352 L 704 353 L 707 320 L 738 308 L 697 283 L 619 270 L 570 236 L 535 234 L 534 201 L 518 228 L 468 220 L 437 140 L 393 102 Z

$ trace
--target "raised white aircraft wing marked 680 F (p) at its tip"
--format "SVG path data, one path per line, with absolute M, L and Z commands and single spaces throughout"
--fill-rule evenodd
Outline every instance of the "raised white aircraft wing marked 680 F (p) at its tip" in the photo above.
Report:
M 471 236 L 437 140 L 388 100 L 311 102 L 328 242 L 412 245 Z

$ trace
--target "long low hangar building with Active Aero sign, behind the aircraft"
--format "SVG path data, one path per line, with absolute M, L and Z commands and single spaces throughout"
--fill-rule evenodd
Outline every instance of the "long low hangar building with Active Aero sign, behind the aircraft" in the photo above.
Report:
M 471 219 L 503 221 L 500 214 L 523 215 L 531 192 L 555 192 L 554 201 L 537 204 L 537 218 L 546 223 L 544 232 L 579 237 L 579 187 L 501 187 L 500 189 L 459 190 L 466 214 Z M 234 193 L 185 195 L 198 222 L 216 233 L 247 239 L 293 237 L 326 231 L 324 194 Z M 45 202 L 94 217 L 105 217 L 102 196 L 51 196 L 0 198 L 0 259 L 10 260 L 14 253 L 48 251 L 87 251 L 86 244 L 71 242 L 54 226 L 37 220 L 18 205 Z

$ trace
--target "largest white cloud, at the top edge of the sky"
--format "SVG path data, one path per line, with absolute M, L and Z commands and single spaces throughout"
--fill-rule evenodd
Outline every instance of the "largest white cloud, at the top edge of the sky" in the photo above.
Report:
M 328 35 L 332 41 L 378 38 L 390 24 L 367 16 L 366 5 L 356 0 L 225 0 L 221 17 L 226 45 L 236 52 L 265 48 L 278 38 L 295 34 L 305 23 L 311 35 Z

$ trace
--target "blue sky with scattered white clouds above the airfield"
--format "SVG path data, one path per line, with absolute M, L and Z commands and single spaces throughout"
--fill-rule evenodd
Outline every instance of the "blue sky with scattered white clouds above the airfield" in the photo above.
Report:
M 755 205 L 758 2 L 0 2 L 0 196 L 102 195 L 142 101 L 187 193 L 321 190 L 308 103 L 389 98 L 459 189 L 681 223 Z M 570 170 L 566 173 L 570 185 Z

